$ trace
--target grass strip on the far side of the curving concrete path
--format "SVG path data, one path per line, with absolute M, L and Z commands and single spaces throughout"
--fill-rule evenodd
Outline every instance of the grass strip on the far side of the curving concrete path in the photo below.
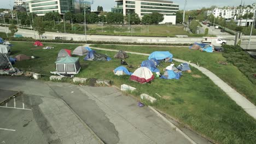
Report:
M 189 50 L 188 47 L 170 47 L 170 46 L 124 46 L 124 45 L 92 45 L 93 47 L 102 47 L 106 49 L 125 50 L 133 52 L 151 53 L 153 51 L 170 51 L 174 58 L 198 62 L 202 67 L 207 68 L 214 74 L 224 80 L 231 87 L 248 98 L 256 105 L 256 85 L 238 70 L 233 64 L 229 63 L 222 53 L 206 53 L 196 50 Z M 228 64 L 220 64 L 227 62 Z

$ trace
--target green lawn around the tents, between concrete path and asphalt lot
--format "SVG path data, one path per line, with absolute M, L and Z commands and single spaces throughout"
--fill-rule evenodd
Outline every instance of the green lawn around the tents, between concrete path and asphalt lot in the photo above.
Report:
M 24 53 L 28 56 L 38 56 L 38 59 L 17 62 L 14 67 L 37 73 L 49 74 L 49 71 L 55 70 L 55 60 L 57 52 L 60 49 L 74 50 L 78 45 L 67 44 L 46 44 L 54 46 L 53 50 L 34 50 L 32 43 L 13 42 L 13 55 Z M 101 46 L 101 45 L 98 45 Z M 103 46 L 101 46 L 103 47 Z M 111 46 L 113 48 L 113 46 Z M 143 49 L 143 50 L 138 50 Z M 152 48 L 152 47 L 151 47 Z M 33 50 L 31 50 L 33 49 Z M 115 49 L 126 48 L 124 46 L 115 46 Z M 127 47 L 127 49 L 130 49 Z M 137 49 L 137 50 L 136 50 Z M 164 47 L 154 47 L 154 49 L 164 50 Z M 176 55 L 183 55 L 181 48 L 168 48 Z M 143 51 L 150 53 L 153 48 L 150 47 L 133 47 L 133 51 Z M 183 49 L 184 51 L 185 49 Z M 99 53 L 107 54 L 112 57 L 116 52 L 100 51 Z M 150 51 L 150 52 L 149 52 Z M 174 52 L 175 51 L 175 52 Z M 196 51 L 190 51 L 194 53 Z M 200 53 L 201 57 L 211 57 L 208 53 Z M 218 56 L 218 53 L 211 53 Z M 184 56 L 187 54 L 184 53 Z M 125 61 L 132 64 L 135 71 L 136 67 L 147 56 L 129 55 Z M 84 57 L 84 56 L 83 56 Z M 141 85 L 140 83 L 129 80 L 129 76 L 115 76 L 112 70 L 120 66 L 120 59 L 112 59 L 109 62 L 83 61 L 80 57 L 82 70 L 77 77 L 95 77 L 97 79 L 113 80 L 114 85 L 120 86 L 123 83 L 137 88 L 136 96 L 140 93 L 152 95 L 158 102 L 154 104 L 156 108 L 168 113 L 168 115 L 178 119 L 183 124 L 188 124 L 191 128 L 199 131 L 203 135 L 210 137 L 218 143 L 254 143 L 256 141 L 256 121 L 248 116 L 239 106 L 232 101 L 220 88 L 203 75 L 199 70 L 192 69 L 192 73 L 183 73 L 180 80 L 162 80 L 156 78 L 152 83 Z M 162 63 L 159 69 L 162 71 L 170 63 Z M 178 63 L 176 63 L 178 64 Z M 210 63 L 211 64 L 211 63 Z M 228 65 L 229 66 L 229 65 Z M 231 66 L 229 66 L 231 67 Z M 233 67 L 233 66 L 232 66 Z M 197 77 L 194 77 L 197 75 Z M 161 95 L 158 97 L 155 93 Z

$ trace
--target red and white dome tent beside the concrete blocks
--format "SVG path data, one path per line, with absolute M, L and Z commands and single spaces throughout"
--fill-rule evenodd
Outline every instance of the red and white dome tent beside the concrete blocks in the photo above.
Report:
M 154 80 L 154 75 L 150 69 L 146 67 L 140 67 L 134 71 L 130 77 L 130 80 L 137 81 L 139 83 L 146 83 Z

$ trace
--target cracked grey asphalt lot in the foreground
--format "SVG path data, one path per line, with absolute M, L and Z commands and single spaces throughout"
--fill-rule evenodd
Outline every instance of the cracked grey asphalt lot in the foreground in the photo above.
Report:
M 93 134 L 84 130 L 86 127 L 81 126 L 79 121 L 74 119 L 74 116 L 79 116 L 104 143 L 191 143 L 149 107 L 138 107 L 135 99 L 123 95 L 114 87 L 88 87 L 72 85 L 71 83 L 42 82 L 19 77 L 0 77 L 0 88 L 24 91 L 25 95 L 17 97 L 16 101 L 18 98 L 26 99 L 26 97 L 33 99 L 32 107 L 29 106 L 31 105 L 29 99 L 25 103 L 28 105 L 28 107 L 25 106 L 27 109 L 32 109 L 24 110 L 27 113 L 26 115 L 23 115 L 23 113 L 20 115 L 19 110 L 16 109 L 14 109 L 15 112 L 9 111 L 11 112 L 10 116 L 16 117 L 8 117 L 8 114 L 4 115 L 8 118 L 4 121 L 8 123 L 5 124 L 6 127 L 16 129 L 14 132 L 8 131 L 8 134 L 0 133 L 1 140 L 6 143 L 11 140 L 18 141 L 20 137 L 24 137 L 30 142 L 33 140 L 34 142 L 31 143 L 49 141 L 79 143 L 85 140 L 91 141 L 88 143 L 95 143 L 97 139 L 94 138 L 94 141 L 92 141 L 90 138 L 94 137 Z M 67 112 L 66 107 L 62 105 L 62 99 L 75 114 Z M 13 101 L 9 101 L 8 106 L 11 103 Z M 8 108 L 2 107 L 1 109 L 4 111 Z M 65 111 L 61 111 L 62 109 L 65 109 Z M 37 111 L 40 115 L 35 114 Z M 59 115 L 59 117 L 56 115 Z M 22 119 L 22 117 L 26 118 Z M 10 119 L 15 120 L 10 121 Z M 40 121 L 37 121 L 37 119 Z M 72 119 L 74 120 L 72 121 Z M 15 123 L 18 126 L 14 125 Z M 42 124 L 47 125 L 47 127 L 42 128 Z M 3 123 L 0 123 L 1 127 L 4 127 Z M 38 134 L 37 137 L 40 139 L 31 136 L 25 128 L 35 131 L 34 133 Z M 10 135 L 18 131 L 20 135 Z M 5 131 L 5 133 L 7 132 Z M 53 134 L 50 135 L 51 133 Z M 201 136 L 188 135 L 197 143 L 208 143 Z M 25 141 L 25 143 L 28 142 Z

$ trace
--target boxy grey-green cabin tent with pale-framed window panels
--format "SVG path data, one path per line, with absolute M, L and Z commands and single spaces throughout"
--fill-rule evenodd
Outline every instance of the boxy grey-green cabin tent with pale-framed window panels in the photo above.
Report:
M 78 57 L 66 56 L 56 61 L 55 64 L 59 74 L 78 74 L 81 69 Z

